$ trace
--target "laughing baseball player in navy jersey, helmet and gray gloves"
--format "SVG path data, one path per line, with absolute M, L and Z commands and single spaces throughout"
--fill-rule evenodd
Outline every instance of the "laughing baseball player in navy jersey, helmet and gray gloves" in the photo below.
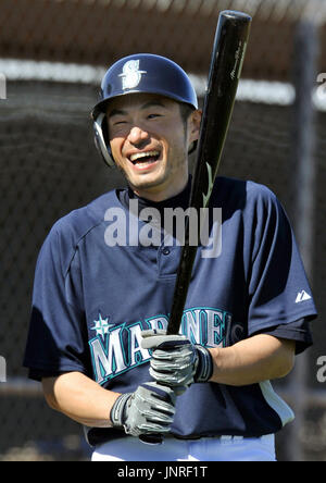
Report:
M 268 461 L 293 419 L 271 381 L 312 344 L 311 288 L 287 215 L 265 186 L 216 179 L 178 335 L 166 335 L 201 112 L 185 72 L 135 54 L 103 77 L 98 149 L 127 188 L 59 220 L 36 267 L 24 364 L 82 423 L 92 460 Z M 167 236 L 168 235 L 168 236 Z M 214 235 L 214 236 L 213 236 Z M 213 239 L 214 242 L 214 239 Z M 163 435 L 161 444 L 158 434 Z

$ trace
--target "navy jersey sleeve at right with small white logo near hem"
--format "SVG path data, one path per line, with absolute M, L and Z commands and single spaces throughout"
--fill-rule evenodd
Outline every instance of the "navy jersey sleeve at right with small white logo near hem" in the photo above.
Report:
M 251 219 L 249 335 L 314 319 L 316 308 L 293 231 L 267 188 L 256 197 Z

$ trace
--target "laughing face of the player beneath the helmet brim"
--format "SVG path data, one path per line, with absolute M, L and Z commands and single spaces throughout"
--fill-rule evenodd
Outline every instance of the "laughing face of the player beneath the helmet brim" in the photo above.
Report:
M 112 156 L 136 195 L 158 202 L 186 187 L 188 149 L 199 135 L 198 110 L 183 120 L 176 101 L 138 94 L 113 99 L 106 119 Z

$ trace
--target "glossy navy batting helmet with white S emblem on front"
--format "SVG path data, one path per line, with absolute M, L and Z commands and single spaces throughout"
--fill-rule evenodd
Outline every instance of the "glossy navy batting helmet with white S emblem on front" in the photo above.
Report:
M 91 112 L 96 146 L 110 166 L 114 165 L 114 160 L 108 138 L 105 107 L 110 99 L 134 92 L 159 94 L 198 109 L 195 88 L 185 71 L 175 62 L 151 53 L 118 60 L 105 73 L 100 100 Z

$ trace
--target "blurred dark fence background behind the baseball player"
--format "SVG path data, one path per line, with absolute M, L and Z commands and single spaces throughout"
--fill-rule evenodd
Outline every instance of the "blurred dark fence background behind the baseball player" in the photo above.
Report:
M 275 384 L 297 413 L 277 435 L 277 455 L 325 461 L 326 1 L 0 0 L 0 460 L 89 457 L 80 426 L 46 406 L 22 359 L 47 233 L 125 185 L 92 139 L 103 73 L 130 53 L 166 55 L 202 102 L 218 13 L 233 9 L 253 25 L 221 174 L 276 193 L 319 314 L 314 346 Z

